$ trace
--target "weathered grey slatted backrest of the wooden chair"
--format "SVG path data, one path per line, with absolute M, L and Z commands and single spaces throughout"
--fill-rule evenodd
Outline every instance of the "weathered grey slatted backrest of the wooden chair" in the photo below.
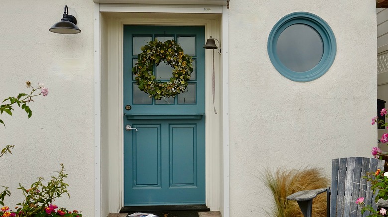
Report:
M 351 157 L 333 159 L 331 175 L 330 217 L 362 217 L 357 198 L 364 197 L 365 204 L 377 207 L 370 183 L 362 178 L 367 172 L 383 170 L 384 161 Z M 365 212 L 364 217 L 369 213 Z

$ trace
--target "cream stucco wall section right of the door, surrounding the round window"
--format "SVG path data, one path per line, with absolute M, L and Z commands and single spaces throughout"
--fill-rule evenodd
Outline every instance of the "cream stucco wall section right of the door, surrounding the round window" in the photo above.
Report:
M 262 216 L 271 196 L 267 166 L 322 167 L 331 159 L 370 156 L 376 128 L 374 1 L 232 1 L 229 24 L 230 216 Z M 283 16 L 314 13 L 332 28 L 336 59 L 317 80 L 298 83 L 272 66 L 268 35 Z

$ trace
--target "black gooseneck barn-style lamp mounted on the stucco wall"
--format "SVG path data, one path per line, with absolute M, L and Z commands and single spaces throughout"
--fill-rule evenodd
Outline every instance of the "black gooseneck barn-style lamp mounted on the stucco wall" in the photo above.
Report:
M 65 12 L 63 13 L 63 18 L 60 22 L 54 24 L 50 28 L 50 32 L 59 33 L 59 34 L 77 34 L 81 30 L 76 26 L 77 19 L 69 15 L 69 9 L 65 5 Z

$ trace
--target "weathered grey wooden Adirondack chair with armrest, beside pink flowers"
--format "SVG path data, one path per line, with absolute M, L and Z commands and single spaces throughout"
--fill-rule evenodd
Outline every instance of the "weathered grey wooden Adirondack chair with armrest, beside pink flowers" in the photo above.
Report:
M 287 197 L 298 202 L 305 217 L 312 215 L 312 200 L 320 193 L 327 192 L 328 217 L 366 217 L 369 211 L 361 215 L 361 207 L 356 204 L 359 197 L 364 197 L 365 205 L 377 208 L 371 184 L 363 176 L 367 172 L 383 171 L 384 160 L 365 157 L 333 159 L 331 170 L 331 187 L 299 191 Z

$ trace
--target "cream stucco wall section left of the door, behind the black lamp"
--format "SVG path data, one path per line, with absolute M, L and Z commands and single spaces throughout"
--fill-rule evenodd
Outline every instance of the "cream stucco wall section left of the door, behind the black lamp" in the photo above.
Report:
M 78 20 L 77 35 L 49 32 L 64 6 Z M 64 163 L 70 199 L 55 203 L 94 216 L 93 2 L 0 1 L 0 98 L 28 91 L 24 82 L 49 88 L 30 104 L 32 117 L 16 109 L 2 115 L 0 145 L 15 145 L 0 159 L 0 185 L 9 186 L 10 207 L 20 202 L 18 183 L 28 187 L 37 177 L 49 180 Z

